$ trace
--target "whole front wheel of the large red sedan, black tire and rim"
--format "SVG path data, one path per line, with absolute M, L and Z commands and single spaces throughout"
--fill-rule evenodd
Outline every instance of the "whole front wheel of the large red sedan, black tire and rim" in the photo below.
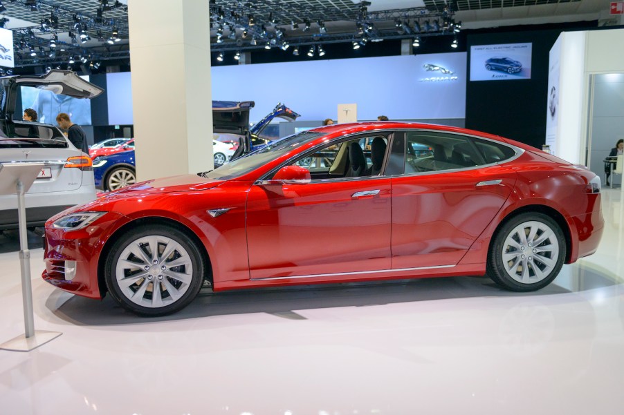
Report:
M 152 224 L 116 240 L 104 264 L 104 279 L 121 307 L 156 317 L 189 305 L 201 289 L 205 270 L 205 259 L 188 235 L 173 226 Z

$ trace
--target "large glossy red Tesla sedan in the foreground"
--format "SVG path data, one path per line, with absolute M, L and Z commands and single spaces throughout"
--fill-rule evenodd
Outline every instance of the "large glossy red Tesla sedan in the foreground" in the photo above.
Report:
M 533 291 L 602 233 L 600 179 L 583 166 L 461 128 L 338 124 L 59 213 L 43 278 L 145 316 L 185 307 L 205 280 L 488 276 Z

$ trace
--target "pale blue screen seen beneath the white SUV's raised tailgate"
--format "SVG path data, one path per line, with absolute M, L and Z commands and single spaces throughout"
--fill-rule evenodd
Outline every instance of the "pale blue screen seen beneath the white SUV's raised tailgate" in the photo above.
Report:
M 81 78 L 89 81 L 89 75 Z M 22 86 L 21 106 L 24 109 L 33 108 L 37 111 L 37 122 L 56 125 L 56 116 L 59 113 L 66 113 L 74 124 L 91 125 L 91 102 L 89 99 L 72 98 L 66 95 L 57 95 L 49 90 Z

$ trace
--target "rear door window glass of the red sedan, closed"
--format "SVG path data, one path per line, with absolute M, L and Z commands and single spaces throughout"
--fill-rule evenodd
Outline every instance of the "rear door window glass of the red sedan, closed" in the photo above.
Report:
M 406 133 L 405 174 L 455 170 L 486 164 L 468 137 L 432 131 Z

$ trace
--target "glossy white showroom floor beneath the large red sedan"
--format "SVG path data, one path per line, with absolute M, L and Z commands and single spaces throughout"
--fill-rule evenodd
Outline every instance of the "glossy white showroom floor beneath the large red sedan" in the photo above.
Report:
M 42 281 L 0 350 L 0 414 L 624 414 L 624 192 L 600 249 L 537 293 L 438 278 L 214 294 L 138 318 Z M 24 333 L 18 241 L 0 235 L 0 343 Z

